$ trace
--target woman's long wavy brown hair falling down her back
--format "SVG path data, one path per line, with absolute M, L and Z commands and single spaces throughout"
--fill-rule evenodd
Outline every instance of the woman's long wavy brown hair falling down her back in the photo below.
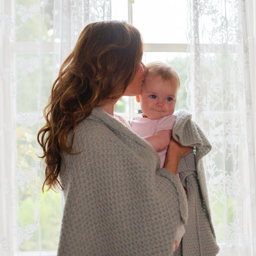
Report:
M 126 22 L 94 22 L 84 28 L 52 86 L 44 109 L 46 124 L 38 132 L 46 163 L 43 191 L 44 186 L 63 189 L 58 179 L 61 159 L 63 152 L 72 154 L 77 124 L 102 102 L 122 97 L 142 54 L 141 35 Z

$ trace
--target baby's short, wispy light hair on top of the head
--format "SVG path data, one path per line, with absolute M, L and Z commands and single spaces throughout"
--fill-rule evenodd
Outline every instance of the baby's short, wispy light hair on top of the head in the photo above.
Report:
M 161 76 L 164 81 L 170 81 L 171 83 L 177 84 L 178 88 L 180 87 L 180 79 L 175 71 L 175 69 L 171 66 L 166 65 L 161 61 L 150 62 L 147 64 L 148 74 L 152 74 L 153 76 Z

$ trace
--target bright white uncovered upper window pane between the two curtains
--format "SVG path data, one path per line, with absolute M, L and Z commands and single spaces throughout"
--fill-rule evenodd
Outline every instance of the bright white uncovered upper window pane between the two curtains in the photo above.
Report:
M 186 0 L 136 0 L 133 24 L 148 44 L 187 44 Z

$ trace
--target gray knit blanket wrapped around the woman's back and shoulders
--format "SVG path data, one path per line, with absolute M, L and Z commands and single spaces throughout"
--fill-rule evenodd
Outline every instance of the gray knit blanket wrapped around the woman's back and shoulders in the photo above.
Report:
M 76 128 L 74 152 L 61 163 L 58 256 L 172 256 L 188 202 L 149 143 L 95 108 Z

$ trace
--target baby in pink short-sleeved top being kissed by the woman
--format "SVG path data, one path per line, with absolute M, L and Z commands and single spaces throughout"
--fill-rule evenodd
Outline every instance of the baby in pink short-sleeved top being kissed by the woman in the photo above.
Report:
M 143 113 L 131 120 L 131 129 L 152 145 L 159 155 L 160 168 L 163 168 L 176 119 L 173 112 L 180 80 L 175 70 L 164 63 L 149 63 L 147 68 L 141 94 L 136 96 Z M 179 226 L 173 252 L 178 248 L 184 232 L 184 226 Z

